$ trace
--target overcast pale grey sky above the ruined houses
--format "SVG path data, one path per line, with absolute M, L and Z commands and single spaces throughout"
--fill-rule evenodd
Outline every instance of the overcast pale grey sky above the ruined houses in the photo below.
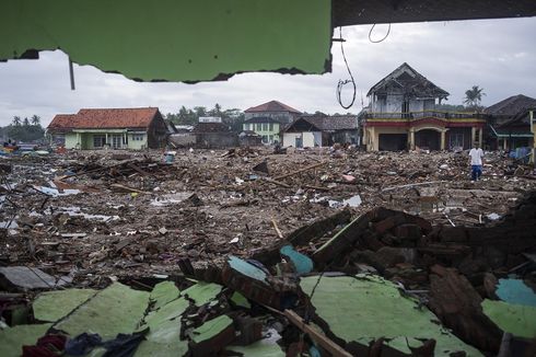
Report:
M 461 104 L 471 85 L 483 88 L 488 106 L 510 95 L 536 97 L 536 18 L 393 24 L 380 44 L 369 42 L 371 26 L 343 27 L 345 51 L 358 84 L 361 111 L 368 90 L 403 62 L 451 93 L 448 104 Z M 378 25 L 380 38 L 387 25 Z M 336 31 L 338 36 L 338 30 Z M 302 112 L 346 113 L 336 100 L 339 79 L 347 79 L 339 43 L 331 47 L 333 72 L 323 76 L 244 73 L 224 82 L 197 84 L 138 83 L 91 66 L 74 66 L 77 90 L 71 91 L 67 56 L 40 54 L 39 60 L 0 62 L 0 126 L 37 114 L 47 125 L 55 114 L 81 107 L 158 106 L 163 114 L 186 107 L 246 110 L 279 100 Z M 350 88 L 343 95 L 350 96 Z

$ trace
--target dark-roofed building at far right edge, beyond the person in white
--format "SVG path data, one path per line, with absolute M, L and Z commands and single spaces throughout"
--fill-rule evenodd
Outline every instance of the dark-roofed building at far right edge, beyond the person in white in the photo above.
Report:
M 531 110 L 536 108 L 536 99 L 517 94 L 488 106 L 488 142 L 492 149 L 512 150 L 533 147 Z

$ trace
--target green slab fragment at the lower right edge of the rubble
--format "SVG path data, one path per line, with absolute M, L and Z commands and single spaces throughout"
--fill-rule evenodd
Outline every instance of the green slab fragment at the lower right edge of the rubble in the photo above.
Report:
M 517 337 L 536 337 L 536 308 L 504 301 L 483 300 L 483 313 L 502 331 Z

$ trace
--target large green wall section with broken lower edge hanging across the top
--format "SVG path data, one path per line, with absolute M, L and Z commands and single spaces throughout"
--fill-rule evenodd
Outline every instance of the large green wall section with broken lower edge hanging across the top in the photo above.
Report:
M 61 48 L 143 81 L 330 69 L 329 0 L 3 0 L 0 59 Z

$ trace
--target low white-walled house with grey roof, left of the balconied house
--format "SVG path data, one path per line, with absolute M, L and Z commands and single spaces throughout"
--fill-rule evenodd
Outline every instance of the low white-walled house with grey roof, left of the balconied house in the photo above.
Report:
M 301 116 L 283 133 L 283 147 L 328 147 L 336 142 L 359 145 L 359 126 L 356 115 Z

